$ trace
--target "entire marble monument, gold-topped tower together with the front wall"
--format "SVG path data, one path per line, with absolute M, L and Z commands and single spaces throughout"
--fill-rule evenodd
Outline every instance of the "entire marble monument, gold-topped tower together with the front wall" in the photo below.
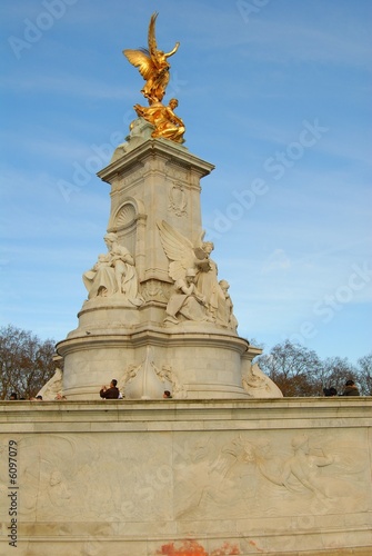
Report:
M 155 20 L 124 50 L 149 106 L 99 172 L 107 249 L 63 371 L 0 401 L 0 554 L 368 556 L 372 398 L 283 398 L 238 335 Z M 100 399 L 112 378 L 124 397 Z

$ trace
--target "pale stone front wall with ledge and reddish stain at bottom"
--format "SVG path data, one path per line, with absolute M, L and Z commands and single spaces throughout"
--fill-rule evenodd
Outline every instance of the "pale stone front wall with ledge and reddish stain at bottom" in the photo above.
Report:
M 0 554 L 370 555 L 371 406 L 0 403 Z

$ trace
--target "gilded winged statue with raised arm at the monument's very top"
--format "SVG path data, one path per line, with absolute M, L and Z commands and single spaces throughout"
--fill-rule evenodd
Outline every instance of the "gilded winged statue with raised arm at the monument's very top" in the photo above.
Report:
M 173 50 L 163 52 L 158 50 L 155 39 L 155 21 L 158 13 L 151 16 L 149 24 L 148 42 L 149 49 L 140 48 L 138 50 L 123 50 L 123 54 L 128 58 L 130 63 L 139 69 L 141 76 L 145 80 L 145 85 L 141 90 L 142 95 L 148 99 L 149 105 L 161 102 L 169 82 L 170 64 L 168 58 L 173 56 L 180 43 L 177 42 Z

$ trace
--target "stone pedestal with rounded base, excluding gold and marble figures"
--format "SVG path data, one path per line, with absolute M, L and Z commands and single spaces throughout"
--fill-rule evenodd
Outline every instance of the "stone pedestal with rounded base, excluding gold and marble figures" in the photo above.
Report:
M 213 166 L 181 145 L 151 139 L 151 130 L 135 120 L 128 141 L 99 172 L 111 185 L 108 232 L 135 261 L 138 292 L 134 299 L 100 295 L 99 287 L 90 292 L 78 328 L 57 346 L 64 359 L 63 393 L 71 400 L 98 399 L 101 386 L 115 378 L 132 399 L 162 398 L 164 389 L 178 399 L 280 397 L 268 377 L 252 371 L 260 350 L 238 336 L 233 315 L 231 322 L 212 318 L 193 299 L 199 314 L 165 318 L 178 284 L 173 267 L 194 265 L 183 249 L 195 259 L 201 245 L 200 179 Z M 208 287 L 220 288 L 217 279 Z

